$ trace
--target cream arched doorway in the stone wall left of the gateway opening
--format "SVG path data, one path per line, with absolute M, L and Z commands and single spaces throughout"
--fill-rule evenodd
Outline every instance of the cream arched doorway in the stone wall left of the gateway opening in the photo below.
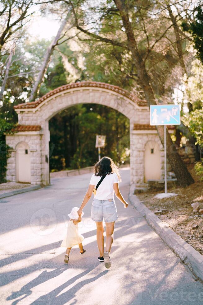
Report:
M 31 182 L 30 150 L 25 142 L 16 145 L 16 182 Z

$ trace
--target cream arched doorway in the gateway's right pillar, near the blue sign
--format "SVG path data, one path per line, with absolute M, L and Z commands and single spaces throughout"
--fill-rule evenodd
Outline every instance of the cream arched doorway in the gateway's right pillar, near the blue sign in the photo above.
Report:
M 144 182 L 160 180 L 161 156 L 159 145 L 156 141 L 148 141 L 144 152 Z

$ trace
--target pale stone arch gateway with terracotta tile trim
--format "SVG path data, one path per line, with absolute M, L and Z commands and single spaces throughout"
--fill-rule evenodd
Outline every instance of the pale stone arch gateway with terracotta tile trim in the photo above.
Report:
M 156 129 L 149 125 L 146 101 L 120 87 L 89 81 L 67 84 L 50 91 L 37 101 L 14 106 L 18 114 L 18 125 L 13 129 L 14 134 L 6 135 L 6 143 L 11 147 L 11 156 L 7 162 L 8 181 L 16 181 L 16 176 L 19 176 L 19 172 L 16 173 L 16 145 L 24 142 L 29 146 L 31 184 L 50 183 L 48 121 L 59 111 L 84 103 L 105 105 L 129 118 L 130 183 L 135 187 L 144 183 L 144 149 L 148 141 L 158 143 L 163 162 L 163 148 Z

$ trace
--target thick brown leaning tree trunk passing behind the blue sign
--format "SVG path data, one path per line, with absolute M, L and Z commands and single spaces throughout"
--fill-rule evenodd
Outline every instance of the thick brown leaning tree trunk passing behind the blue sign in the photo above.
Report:
M 133 29 L 132 29 L 131 23 L 129 21 L 128 10 L 125 7 L 125 2 L 123 2 L 121 0 L 114 0 L 114 2 L 120 12 L 120 16 L 123 21 L 123 26 L 125 28 L 125 32 L 127 35 L 129 50 L 132 53 L 132 59 L 134 60 L 134 63 L 137 67 L 139 83 L 143 88 L 144 95 L 145 95 L 146 101 L 148 103 L 148 106 L 150 107 L 150 105 L 156 105 L 156 99 L 155 99 L 154 92 L 151 87 L 152 82 L 151 82 L 150 76 L 148 75 L 147 70 L 145 68 L 145 63 L 143 62 L 142 57 L 139 54 L 137 43 L 136 43 L 136 40 L 135 40 L 135 37 L 133 34 Z M 161 141 L 162 145 L 164 145 L 164 127 L 156 126 L 156 129 L 157 129 L 160 141 Z M 187 185 L 194 183 L 192 176 L 190 175 L 189 171 L 187 170 L 187 167 L 183 163 L 178 152 L 172 151 L 174 144 L 171 140 L 168 130 L 166 131 L 166 138 L 167 138 L 167 158 L 171 164 L 172 170 L 175 173 L 178 184 L 180 186 L 185 187 Z

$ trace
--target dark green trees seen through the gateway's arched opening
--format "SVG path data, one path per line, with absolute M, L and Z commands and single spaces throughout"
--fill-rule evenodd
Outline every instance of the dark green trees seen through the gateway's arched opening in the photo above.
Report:
M 106 135 L 101 157 L 107 155 L 117 164 L 129 162 L 129 119 L 112 108 L 97 104 L 73 106 L 55 115 L 49 129 L 51 171 L 97 162 L 96 134 Z

